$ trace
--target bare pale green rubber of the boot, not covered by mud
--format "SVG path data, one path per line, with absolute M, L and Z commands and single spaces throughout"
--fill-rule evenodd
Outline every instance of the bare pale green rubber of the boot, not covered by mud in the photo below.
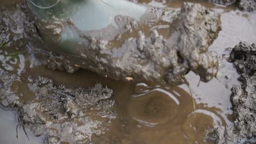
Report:
M 75 45 L 83 41 L 78 31 L 99 31 L 108 28 L 114 32 L 118 29 L 116 16 L 128 16 L 140 21 L 146 12 L 146 7 L 127 0 L 26 0 L 26 3 L 37 19 L 56 28 L 55 34 L 60 36 L 59 50 L 72 55 L 80 55 L 80 52 L 73 50 Z M 53 26 L 50 30 L 54 30 Z M 49 33 L 44 34 L 45 29 L 41 29 L 40 25 L 37 25 L 37 28 L 40 36 L 47 39 L 46 44 L 56 43 Z

